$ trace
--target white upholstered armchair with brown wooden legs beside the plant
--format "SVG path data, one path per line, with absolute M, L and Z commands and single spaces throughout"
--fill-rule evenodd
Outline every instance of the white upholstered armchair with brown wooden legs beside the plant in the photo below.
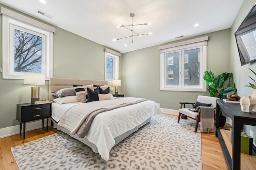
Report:
M 200 96 L 200 95 L 197 97 L 198 102 L 211 103 L 212 105 L 210 107 L 213 107 L 214 109 L 216 108 L 216 99 L 218 99 L 218 97 L 209 97 L 209 96 Z M 194 130 L 194 132 L 196 132 L 198 128 L 198 123 L 201 121 L 200 109 L 198 110 L 198 112 L 190 111 L 188 108 L 179 109 L 178 123 L 180 122 L 181 115 L 184 115 L 184 116 L 190 117 L 191 119 L 196 120 L 196 127 Z M 215 117 L 215 112 L 214 112 L 214 117 Z

